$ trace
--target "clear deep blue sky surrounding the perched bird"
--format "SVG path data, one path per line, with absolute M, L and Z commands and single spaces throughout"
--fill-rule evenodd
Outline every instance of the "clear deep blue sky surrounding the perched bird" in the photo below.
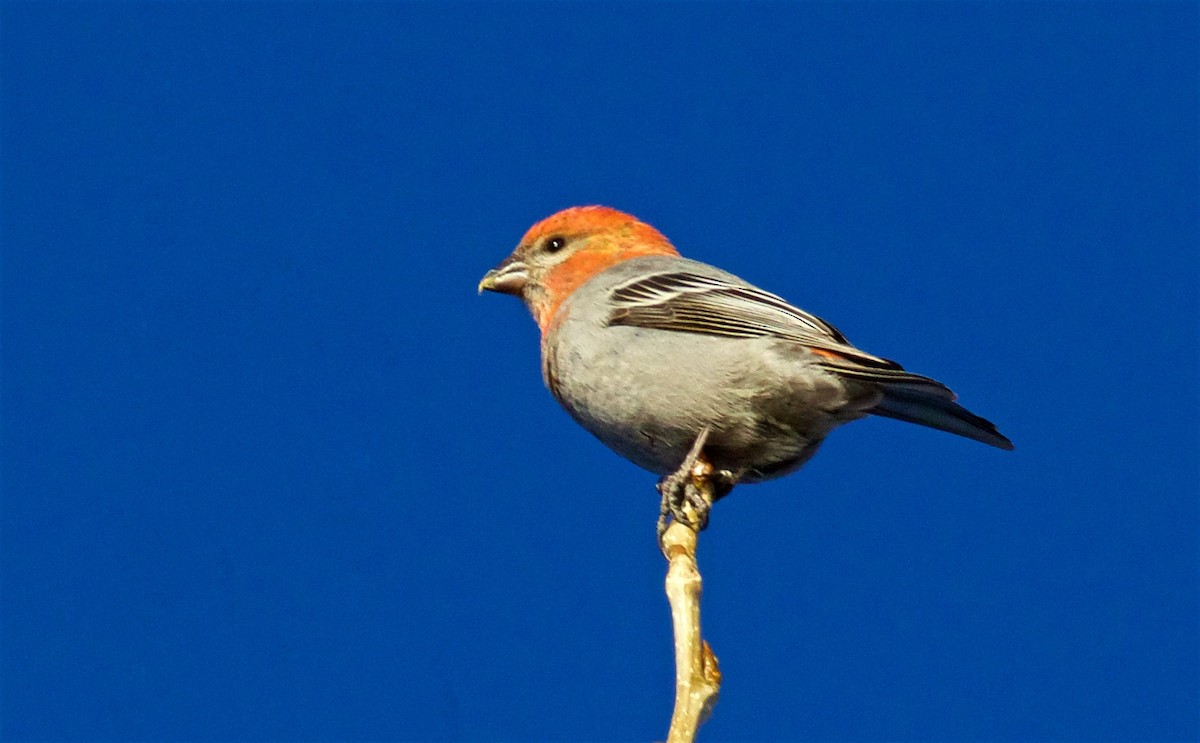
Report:
M 947 382 L 703 535 L 708 741 L 1200 736 L 1198 6 L 0 5 L 0 735 L 665 735 L 654 478 L 475 295 L 605 203 Z

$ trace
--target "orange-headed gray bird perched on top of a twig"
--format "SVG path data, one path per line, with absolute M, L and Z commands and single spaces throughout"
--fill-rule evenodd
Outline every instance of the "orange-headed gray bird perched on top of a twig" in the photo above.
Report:
M 660 543 L 668 516 L 707 525 L 712 503 L 685 492 L 697 460 L 718 475 L 716 499 L 794 472 L 830 431 L 866 415 L 1013 449 L 941 382 L 684 258 L 658 229 L 610 206 L 571 206 L 535 223 L 478 290 L 523 300 L 553 397 L 610 449 L 661 477 Z

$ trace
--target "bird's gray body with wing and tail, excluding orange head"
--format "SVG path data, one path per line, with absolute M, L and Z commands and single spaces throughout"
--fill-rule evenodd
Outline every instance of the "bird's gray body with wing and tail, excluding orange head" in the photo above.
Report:
M 658 474 L 706 425 L 709 461 L 746 483 L 796 469 L 833 429 L 871 413 L 1013 448 L 941 383 L 673 256 L 632 258 L 576 288 L 546 332 L 542 373 L 580 425 Z

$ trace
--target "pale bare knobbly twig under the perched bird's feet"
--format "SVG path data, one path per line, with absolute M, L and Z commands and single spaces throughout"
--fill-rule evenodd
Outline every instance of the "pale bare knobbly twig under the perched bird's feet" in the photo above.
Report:
M 694 489 L 700 503 L 712 504 L 712 466 L 703 459 L 691 463 L 686 487 Z M 706 514 L 707 516 L 707 514 Z M 695 520 L 689 520 L 696 523 Z M 671 715 L 667 743 L 691 743 L 696 731 L 713 713 L 721 689 L 721 671 L 716 657 L 700 634 L 700 568 L 696 567 L 698 535 L 691 523 L 674 520 L 662 534 L 662 552 L 668 561 L 666 592 L 671 603 L 671 621 L 676 646 L 676 702 Z

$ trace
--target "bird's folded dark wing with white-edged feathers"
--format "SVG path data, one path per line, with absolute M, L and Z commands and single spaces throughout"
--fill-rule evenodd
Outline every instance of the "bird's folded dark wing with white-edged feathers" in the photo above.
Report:
M 836 328 L 762 289 L 691 271 L 668 271 L 618 284 L 611 293 L 608 325 L 738 338 L 774 337 L 804 346 L 816 362 L 842 376 L 869 382 L 932 385 L 941 383 L 904 371 L 895 361 L 850 344 Z

